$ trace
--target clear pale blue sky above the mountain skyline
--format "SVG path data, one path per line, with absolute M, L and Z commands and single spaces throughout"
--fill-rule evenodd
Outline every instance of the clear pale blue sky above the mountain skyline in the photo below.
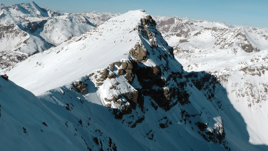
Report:
M 6 6 L 19 4 L 23 0 L 1 0 Z M 179 16 L 189 19 L 225 22 L 231 25 L 268 27 L 267 0 L 35 0 L 42 8 L 68 13 L 83 11 L 126 13 L 143 9 L 150 15 Z

